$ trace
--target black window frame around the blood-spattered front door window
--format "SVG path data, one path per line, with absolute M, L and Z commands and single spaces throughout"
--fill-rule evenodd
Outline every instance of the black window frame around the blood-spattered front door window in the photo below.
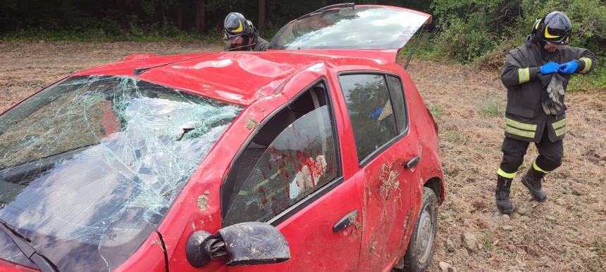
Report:
M 318 84 L 322 83 L 324 85 L 325 88 L 325 93 L 326 93 L 326 105 L 328 106 L 328 114 L 330 115 L 330 122 L 331 127 L 333 129 L 333 137 L 335 138 L 335 160 L 336 160 L 336 169 L 337 169 L 337 175 L 335 176 L 335 178 L 331 181 L 328 181 L 327 183 L 325 183 L 323 186 L 317 188 L 316 190 L 314 190 L 313 192 L 309 193 L 309 195 L 307 195 L 306 197 L 303 197 L 301 200 L 295 202 L 293 205 L 291 205 L 290 207 L 287 207 L 285 210 L 283 210 L 282 212 L 280 212 L 278 215 L 273 216 L 273 218 L 269 219 L 268 221 L 266 221 L 267 224 L 270 224 L 271 226 L 278 226 L 280 223 L 282 223 L 283 221 L 285 221 L 286 219 L 289 219 L 290 216 L 293 216 L 294 214 L 297 214 L 297 212 L 301 211 L 302 209 L 304 209 L 305 207 L 311 205 L 312 202 L 318 200 L 322 195 L 325 195 L 326 193 L 330 192 L 330 190 L 333 190 L 333 188 L 337 187 L 338 185 L 340 185 L 345 179 L 343 178 L 343 164 L 342 164 L 342 157 L 341 157 L 341 145 L 340 145 L 340 138 L 339 138 L 339 130 L 337 127 L 337 119 L 335 118 L 335 110 L 334 110 L 334 101 L 333 101 L 333 95 L 330 93 L 330 84 L 328 83 L 328 79 L 325 76 L 321 76 L 318 79 L 314 80 L 314 82 L 311 82 L 311 84 L 307 85 L 302 91 L 299 91 L 299 93 L 297 93 L 296 96 L 294 96 L 293 98 L 291 98 L 287 103 L 284 103 L 283 105 L 280 105 L 280 108 L 274 110 L 273 112 L 271 112 L 270 115 L 268 115 L 260 124 L 259 126 L 257 126 L 254 131 L 252 132 L 252 134 L 250 134 L 246 141 L 240 146 L 239 150 L 237 151 L 236 155 L 234 156 L 233 160 L 230 162 L 230 167 L 229 167 L 229 171 L 228 174 L 225 175 L 225 179 L 223 179 L 223 181 L 221 181 L 221 188 L 219 190 L 220 192 L 220 197 L 219 197 L 219 202 L 220 202 L 220 213 L 221 213 L 221 228 L 224 228 L 225 225 L 223 223 L 225 216 L 227 215 L 229 206 L 233 204 L 233 202 L 228 203 L 228 199 L 226 199 L 225 195 L 224 195 L 224 190 L 225 188 L 225 181 L 227 181 L 230 177 L 230 173 L 231 171 L 233 171 L 235 168 L 235 162 L 237 162 L 238 159 L 240 159 L 240 157 L 242 156 L 242 154 L 245 152 L 245 150 L 247 149 L 248 145 L 252 142 L 252 140 L 254 139 L 254 137 L 256 136 L 256 134 L 259 134 L 259 131 L 261 131 L 261 129 L 263 127 L 266 126 L 266 124 L 271 121 L 271 119 L 273 117 L 275 117 L 276 115 L 278 115 L 280 112 L 282 112 L 283 110 L 285 110 L 285 108 L 288 108 L 288 105 L 290 105 L 290 103 L 296 101 L 298 98 L 300 98 L 301 96 L 303 96 L 305 93 L 307 93 L 307 91 L 309 91 L 310 89 L 314 88 L 315 86 L 317 86 Z M 296 121 L 296 120 L 295 120 Z M 279 134 L 278 134 L 279 135 Z M 227 207 L 225 207 L 225 205 Z M 223 212 L 225 210 L 225 212 Z

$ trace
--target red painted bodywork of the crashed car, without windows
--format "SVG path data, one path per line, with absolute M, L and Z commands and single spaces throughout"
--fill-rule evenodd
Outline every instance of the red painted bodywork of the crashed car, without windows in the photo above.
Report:
M 388 271 L 397 259 L 404 255 L 416 217 L 419 214 L 422 183 L 432 178 L 440 180 L 440 202 L 444 199 L 444 182 L 438 138 L 433 129 L 419 91 L 407 72 L 394 63 L 395 50 L 315 50 L 315 51 L 268 51 L 195 53 L 180 56 L 158 56 L 128 62 L 94 67 L 75 75 L 125 75 L 149 82 L 182 89 L 199 96 L 216 98 L 228 103 L 247 105 L 223 136 L 206 155 L 190 181 L 183 188 L 166 214 L 158 231 L 166 243 L 169 266 L 172 271 Z M 198 57 L 173 65 L 148 70 L 133 76 L 135 67 L 148 67 L 161 63 Z M 352 70 L 388 72 L 402 78 L 409 131 L 402 140 L 391 145 L 364 167 L 359 167 L 352 125 L 347 113 L 345 98 L 338 82 L 338 73 Z M 237 75 L 237 76 L 234 76 Z M 237 78 L 237 80 L 235 80 Z M 321 195 L 277 226 L 285 236 L 291 252 L 290 261 L 260 266 L 227 267 L 221 260 L 211 261 L 204 268 L 193 268 L 185 257 L 185 245 L 192 232 L 192 222 L 197 229 L 215 233 L 221 226 L 221 186 L 228 176 L 238 151 L 254 131 L 246 127 L 247 118 L 263 124 L 279 108 L 292 101 L 316 79 L 326 79 L 330 91 L 330 105 L 338 131 L 340 145 L 342 183 Z M 281 86 L 280 89 L 277 89 Z M 111 119 L 108 116 L 109 119 Z M 108 124 L 111 128 L 111 124 Z M 258 129 L 257 129 L 258 130 Z M 110 129 L 111 131 L 111 129 Z M 285 164 L 294 163 L 301 171 L 304 167 L 320 176 L 326 169 L 318 158 L 307 157 L 302 152 L 278 154 L 270 148 L 272 158 L 280 158 L 276 164 L 284 173 L 283 186 L 289 188 L 296 171 L 286 171 Z M 413 156 L 421 156 L 413 170 L 400 167 Z M 399 190 L 391 192 L 388 202 L 378 196 L 381 165 L 392 163 L 398 171 Z M 268 165 L 269 169 L 276 168 Z M 300 181 L 297 181 L 300 183 Z M 303 182 L 305 184 L 305 182 Z M 305 186 L 301 184 L 302 186 Z M 316 180 L 313 180 L 314 186 Z M 200 211 L 197 199 L 208 192 L 209 207 Z M 264 204 L 267 201 L 264 190 Z M 286 208 L 283 202 L 271 198 L 274 214 Z M 263 199 L 263 198 L 262 198 Z M 350 233 L 350 226 L 343 233 L 333 233 L 331 227 L 349 212 L 358 210 L 357 223 L 364 231 Z M 156 233 L 118 267 L 118 271 L 166 271 L 164 253 L 154 240 Z M 373 250 L 369 250 L 372 247 Z M 378 256 L 378 257 L 377 257 Z M 16 266 L 0 262 L 0 271 L 18 271 Z

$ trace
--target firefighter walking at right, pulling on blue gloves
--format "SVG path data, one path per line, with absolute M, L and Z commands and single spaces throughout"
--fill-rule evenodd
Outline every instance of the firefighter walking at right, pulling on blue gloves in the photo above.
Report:
M 571 30 L 564 13 L 545 15 L 533 25 L 526 44 L 509 51 L 503 65 L 501 80 L 507 87 L 505 140 L 495 190 L 496 204 L 503 214 L 514 210 L 509 188 L 529 143 L 536 144 L 539 155 L 521 182 L 538 202 L 547 198 L 541 180 L 562 164 L 562 139 L 567 131 L 564 90 L 571 75 L 591 72 L 597 65 L 587 49 L 567 46 Z

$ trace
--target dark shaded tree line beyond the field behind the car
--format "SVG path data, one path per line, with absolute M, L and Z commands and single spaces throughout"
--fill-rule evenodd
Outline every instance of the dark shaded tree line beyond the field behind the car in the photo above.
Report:
M 351 0 L 350 0 L 351 1 Z M 61 30 L 101 27 L 172 27 L 214 32 L 231 11 L 245 14 L 256 27 L 280 27 L 299 15 L 343 1 L 306 0 L 0 0 L 0 33 L 31 28 Z M 387 4 L 427 10 L 431 1 L 366 0 L 357 4 Z

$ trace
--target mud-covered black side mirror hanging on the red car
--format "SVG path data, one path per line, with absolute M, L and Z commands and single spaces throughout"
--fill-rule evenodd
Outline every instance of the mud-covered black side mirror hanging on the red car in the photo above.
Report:
M 282 233 L 261 222 L 235 224 L 221 228 L 215 235 L 196 231 L 187 239 L 185 253 L 194 267 L 220 257 L 228 266 L 277 264 L 290 259 Z

